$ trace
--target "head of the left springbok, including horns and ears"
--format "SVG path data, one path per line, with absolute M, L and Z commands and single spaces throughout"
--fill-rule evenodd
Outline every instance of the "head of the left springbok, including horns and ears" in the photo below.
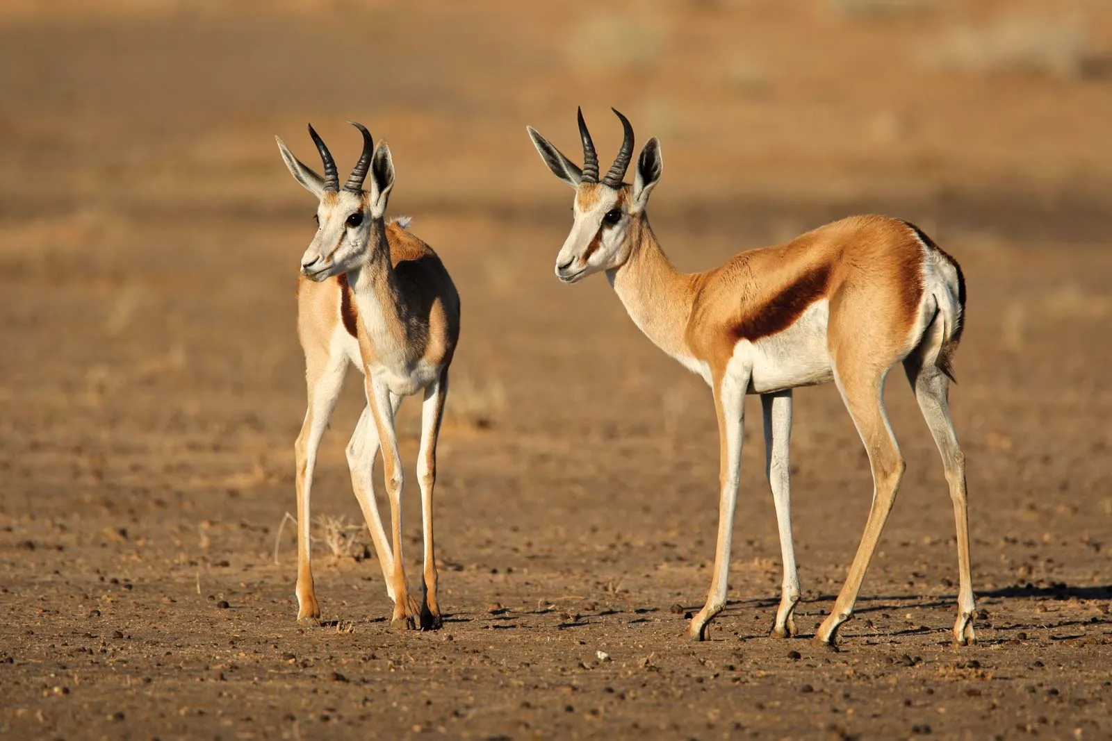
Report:
M 315 214 L 317 233 L 301 257 L 301 274 L 317 282 L 358 269 L 373 250 L 389 249 L 383 230 L 383 216 L 394 188 L 390 148 L 385 141 L 376 148 L 365 126 L 354 121 L 351 126 L 363 133 L 363 154 L 342 188 L 336 172 L 336 160 L 312 126 L 309 127 L 309 136 L 320 152 L 324 177 L 294 157 L 286 143 L 275 137 L 290 174 L 319 199 Z M 364 190 L 368 170 L 369 191 Z

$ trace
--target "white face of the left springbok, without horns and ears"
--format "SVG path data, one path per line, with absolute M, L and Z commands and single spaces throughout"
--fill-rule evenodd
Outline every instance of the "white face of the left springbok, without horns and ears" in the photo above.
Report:
M 301 274 L 320 282 L 357 269 L 373 247 L 367 193 L 324 193 L 316 218 L 317 233 L 301 256 Z

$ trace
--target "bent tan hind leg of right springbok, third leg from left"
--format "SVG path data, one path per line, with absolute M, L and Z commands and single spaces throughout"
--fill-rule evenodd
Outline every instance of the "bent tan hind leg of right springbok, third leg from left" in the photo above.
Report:
M 853 614 L 861 582 L 865 579 L 865 571 L 868 570 L 868 562 L 873 558 L 873 551 L 876 550 L 876 542 L 892 511 L 896 489 L 906 468 L 895 437 L 892 434 L 892 428 L 888 425 L 881 397 L 887 369 L 877 372 L 864 363 L 861 366 L 843 368 L 835 358 L 834 381 L 868 453 L 868 462 L 873 469 L 873 504 L 868 510 L 865 532 L 861 537 L 861 544 L 857 545 L 857 553 L 853 557 L 850 573 L 834 602 L 834 610 L 815 633 L 815 639 L 823 643 L 833 643 L 838 625 Z

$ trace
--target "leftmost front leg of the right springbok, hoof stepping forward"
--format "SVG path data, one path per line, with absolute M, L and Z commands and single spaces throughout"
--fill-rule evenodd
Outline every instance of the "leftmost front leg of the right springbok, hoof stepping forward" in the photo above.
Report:
M 742 428 L 745 417 L 745 378 L 724 375 L 717 382 L 714 395 L 718 413 L 718 542 L 714 552 L 714 575 L 706 604 L 692 619 L 687 634 L 693 641 L 706 638 L 706 624 L 726 607 L 726 585 L 729 575 L 729 548 L 734 537 L 734 510 L 737 505 L 737 484 L 742 468 Z

